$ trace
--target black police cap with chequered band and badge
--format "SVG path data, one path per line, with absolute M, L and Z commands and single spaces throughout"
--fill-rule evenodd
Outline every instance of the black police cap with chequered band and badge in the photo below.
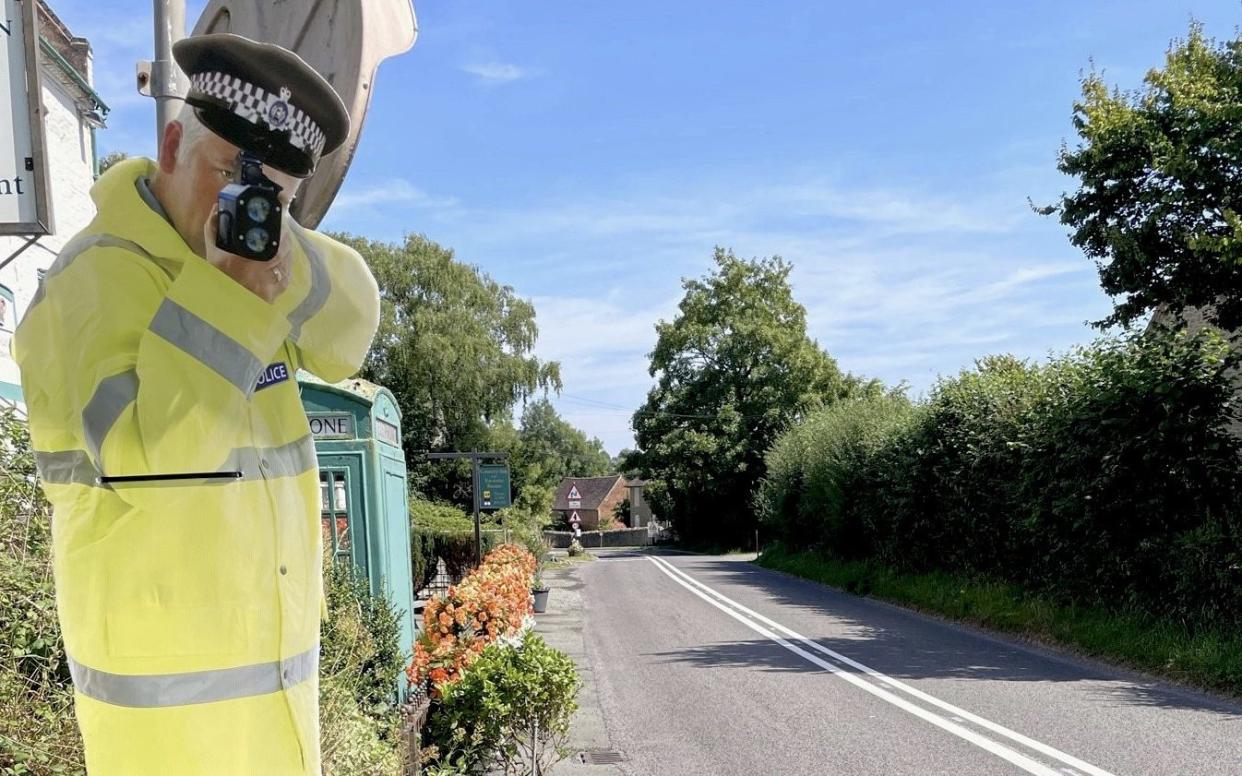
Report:
M 340 97 L 287 48 L 216 32 L 178 41 L 173 56 L 199 120 L 277 170 L 306 178 L 349 134 Z

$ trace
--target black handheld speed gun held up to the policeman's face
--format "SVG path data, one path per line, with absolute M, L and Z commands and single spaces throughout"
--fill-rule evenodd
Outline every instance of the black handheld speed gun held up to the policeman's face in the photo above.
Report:
M 263 175 L 258 155 L 242 150 L 233 180 L 220 190 L 216 247 L 255 261 L 271 261 L 281 245 L 281 186 Z

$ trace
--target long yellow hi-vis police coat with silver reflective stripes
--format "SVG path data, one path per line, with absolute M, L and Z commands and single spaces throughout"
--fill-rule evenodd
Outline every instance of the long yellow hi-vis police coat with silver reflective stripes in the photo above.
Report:
M 319 476 L 294 371 L 353 375 L 379 322 L 361 257 L 294 226 L 270 304 L 139 194 L 91 191 L 14 336 L 92 776 L 319 774 Z M 240 472 L 101 483 L 101 477 Z

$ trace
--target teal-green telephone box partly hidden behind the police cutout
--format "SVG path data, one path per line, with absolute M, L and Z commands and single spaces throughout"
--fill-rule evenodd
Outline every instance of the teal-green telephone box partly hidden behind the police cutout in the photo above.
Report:
M 323 382 L 298 371 L 302 406 L 319 457 L 323 544 L 381 590 L 401 623 L 401 649 L 414 651 L 414 580 L 401 413 L 374 382 Z M 400 684 L 405 685 L 401 680 Z

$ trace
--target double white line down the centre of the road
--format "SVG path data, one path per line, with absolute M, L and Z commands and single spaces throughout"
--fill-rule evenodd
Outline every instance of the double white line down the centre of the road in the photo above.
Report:
M 703 598 L 704 601 L 717 607 L 725 615 L 743 623 L 755 633 L 759 633 L 761 636 L 773 639 L 774 642 L 776 642 L 781 647 L 785 647 L 794 654 L 797 654 L 799 657 L 806 659 L 807 662 L 818 665 L 823 670 L 827 670 L 833 675 L 845 679 L 850 684 L 853 684 L 854 687 L 867 693 L 871 693 L 876 698 L 879 698 L 881 700 L 889 703 L 902 709 L 903 711 L 908 711 L 914 716 L 918 716 L 919 719 L 928 721 L 935 725 L 936 728 L 940 728 L 941 730 L 951 733 L 953 735 L 965 741 L 970 741 L 975 746 L 979 746 L 980 749 L 984 749 L 996 755 L 997 757 L 1001 757 L 1002 760 L 1012 762 L 1013 765 L 1016 765 L 1017 767 L 1022 769 L 1028 774 L 1037 774 L 1038 776 L 1066 776 L 1067 774 L 1077 771 L 1079 774 L 1087 774 L 1089 776 L 1113 776 L 1113 774 L 1105 771 L 1104 769 L 1095 767 L 1094 765 L 1084 762 L 1078 757 L 1074 757 L 1073 755 L 1067 755 L 1066 752 L 1054 749 L 1052 746 L 1048 746 L 1047 744 L 1041 744 L 1040 741 L 1030 739 L 1022 735 L 1021 733 L 1016 733 L 1013 730 L 1010 730 L 1009 728 L 1005 728 L 1004 725 L 997 725 L 991 720 L 984 719 L 982 716 L 979 716 L 976 714 L 971 714 L 965 709 L 960 709 L 953 705 L 951 703 L 945 703 L 939 698 L 928 695 L 927 693 L 919 689 L 915 689 L 903 682 L 899 682 L 897 679 L 893 679 L 892 677 L 882 674 L 873 668 L 863 665 L 862 663 L 852 658 L 848 658 L 841 654 L 840 652 L 828 649 L 823 644 L 814 639 L 806 638 L 805 636 L 796 633 L 790 628 L 786 628 L 781 623 L 770 620 L 768 617 L 764 617 L 759 612 L 746 608 L 745 606 L 738 603 L 733 598 L 725 597 L 724 595 L 708 587 L 703 582 L 699 582 L 694 577 L 689 576 L 681 569 L 673 566 L 673 564 L 668 562 L 663 557 L 656 557 L 648 555 L 647 560 L 656 564 L 656 567 L 658 567 L 661 571 L 668 575 L 674 582 L 677 582 L 686 590 L 691 591 L 699 598 Z M 828 659 L 825 659 L 823 657 L 820 656 L 826 656 Z M 846 669 L 845 667 L 847 665 L 853 670 Z M 883 683 L 884 687 L 879 687 L 874 682 L 869 682 L 868 679 L 863 678 L 859 674 L 866 674 L 871 679 L 874 679 L 874 682 Z M 933 711 L 922 705 L 917 705 L 910 700 L 898 695 L 897 692 L 904 693 L 914 699 L 920 700 L 922 703 L 929 706 L 945 711 L 953 719 L 941 716 L 936 711 Z M 989 733 L 1001 736 L 1004 739 L 1009 739 L 1010 741 L 1018 744 L 1030 751 L 1038 752 L 1046 757 L 1049 757 L 1062 764 L 1062 766 L 1068 766 L 1068 767 L 1059 767 L 1059 769 L 1049 767 L 1048 765 L 1045 765 L 1043 762 L 1035 760 L 1027 754 L 1023 754 L 997 740 L 994 740 L 986 735 L 971 730 L 970 728 L 966 728 L 965 726 L 966 723 L 970 723 L 976 728 L 987 730 Z M 1071 771 L 1069 769 L 1073 770 Z

